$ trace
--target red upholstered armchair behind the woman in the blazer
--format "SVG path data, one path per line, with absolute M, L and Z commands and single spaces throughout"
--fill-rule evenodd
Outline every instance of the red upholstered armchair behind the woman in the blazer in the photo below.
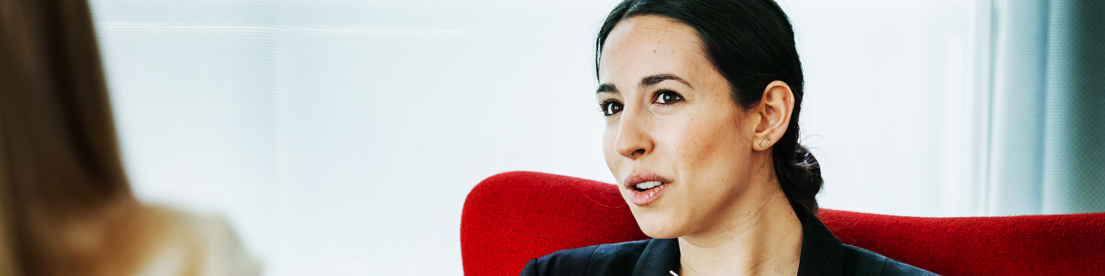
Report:
M 1105 213 L 912 217 L 822 209 L 842 242 L 945 276 L 1105 275 Z M 467 276 L 515 276 L 559 250 L 649 238 L 611 184 L 539 172 L 487 178 L 461 216 Z

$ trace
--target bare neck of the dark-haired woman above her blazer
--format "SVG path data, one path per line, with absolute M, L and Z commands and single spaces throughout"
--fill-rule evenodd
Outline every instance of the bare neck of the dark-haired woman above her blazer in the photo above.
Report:
M 776 182 L 776 181 L 771 181 Z M 720 222 L 680 237 L 681 276 L 798 274 L 802 223 L 778 183 L 736 199 Z

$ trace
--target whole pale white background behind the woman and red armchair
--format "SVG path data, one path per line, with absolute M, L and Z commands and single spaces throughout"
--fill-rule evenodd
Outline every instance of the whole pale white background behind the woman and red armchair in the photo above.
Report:
M 92 1 L 135 191 L 225 214 L 282 276 L 461 275 L 482 179 L 612 182 L 593 36 L 615 3 Z M 1008 214 L 974 184 L 979 4 L 781 6 L 822 208 Z

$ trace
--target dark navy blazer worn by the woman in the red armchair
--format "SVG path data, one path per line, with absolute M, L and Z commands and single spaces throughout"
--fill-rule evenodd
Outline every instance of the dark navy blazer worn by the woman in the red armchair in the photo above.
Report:
M 938 276 L 864 248 L 846 245 L 802 208 L 794 208 L 802 222 L 802 255 L 799 276 L 885 275 Z M 558 251 L 530 259 L 522 276 L 672 276 L 680 272 L 676 238 L 602 244 Z

